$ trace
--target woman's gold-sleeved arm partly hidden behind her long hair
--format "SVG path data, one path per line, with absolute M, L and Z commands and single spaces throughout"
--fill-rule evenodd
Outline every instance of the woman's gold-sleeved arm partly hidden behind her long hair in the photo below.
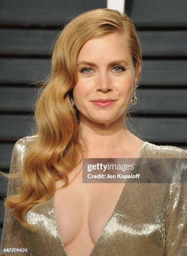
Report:
M 26 148 L 26 137 L 18 140 L 13 148 L 11 163 L 10 163 L 10 174 L 16 173 L 20 171 L 23 167 L 23 155 L 25 153 Z M 13 195 L 16 193 L 19 185 L 19 180 L 12 179 L 8 180 L 7 187 L 7 195 Z M 17 256 L 25 256 L 26 253 L 3 253 L 4 248 L 26 248 L 26 236 L 24 227 L 21 223 L 12 215 L 12 212 L 9 208 L 5 207 L 5 218 L 2 230 L 2 238 L 0 244 L 0 255 L 9 256 L 9 255 L 17 255 Z

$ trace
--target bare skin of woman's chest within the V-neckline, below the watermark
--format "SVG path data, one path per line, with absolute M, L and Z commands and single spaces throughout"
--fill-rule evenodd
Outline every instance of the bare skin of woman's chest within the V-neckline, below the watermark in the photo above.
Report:
M 56 182 L 56 187 L 61 185 L 61 182 Z M 77 179 L 76 182 L 55 192 L 57 228 L 68 255 L 90 255 L 115 210 L 124 185 L 87 184 Z

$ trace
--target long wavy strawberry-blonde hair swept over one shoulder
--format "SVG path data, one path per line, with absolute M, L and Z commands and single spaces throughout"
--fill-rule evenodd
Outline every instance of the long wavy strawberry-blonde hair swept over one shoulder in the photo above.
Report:
M 26 222 L 26 212 L 55 193 L 56 180 L 64 179 L 62 187 L 66 187 L 67 174 L 81 163 L 85 154 L 79 142 L 79 113 L 70 100 L 78 80 L 77 55 L 91 38 L 115 32 L 125 34 L 136 70 L 138 61 L 142 62 L 142 51 L 136 28 L 126 13 L 108 8 L 90 10 L 72 19 L 57 36 L 51 74 L 42 81 L 37 95 L 36 138 L 24 156 L 24 168 L 17 174 L 1 172 L 10 179 L 22 180 L 19 193 L 6 197 L 5 207 L 13 209 L 17 220 L 27 229 L 35 230 Z M 140 76 L 141 71 L 138 83 Z

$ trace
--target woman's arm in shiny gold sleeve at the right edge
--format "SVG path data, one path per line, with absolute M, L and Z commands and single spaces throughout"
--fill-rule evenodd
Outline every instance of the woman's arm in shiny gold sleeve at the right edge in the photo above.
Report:
M 187 174 L 187 150 L 182 150 L 179 161 L 180 178 Z M 171 184 L 166 221 L 165 256 L 187 256 L 187 180 Z

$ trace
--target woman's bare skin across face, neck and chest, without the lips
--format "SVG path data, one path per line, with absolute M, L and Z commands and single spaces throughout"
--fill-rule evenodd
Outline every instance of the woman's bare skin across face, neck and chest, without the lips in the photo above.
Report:
M 120 63 L 125 70 L 115 68 L 119 64 L 109 66 L 109 63 L 121 59 L 127 61 L 127 64 Z M 97 67 L 78 65 L 81 61 L 94 62 Z M 89 69 L 84 72 L 89 75 L 82 71 L 86 67 Z M 127 130 L 124 114 L 130 105 L 133 85 L 137 84 L 140 68 L 139 63 L 135 72 L 124 35 L 115 33 L 93 38 L 82 46 L 77 58 L 78 82 L 73 90 L 73 98 L 80 113 L 80 142 L 87 148 L 86 157 L 134 158 L 139 155 L 142 141 Z M 112 98 L 117 101 L 107 108 L 99 108 L 91 102 L 99 98 Z M 80 169 L 79 175 L 75 175 L 77 169 Z M 80 246 L 80 243 L 84 243 L 84 255 L 90 255 L 93 245 L 114 211 L 124 184 L 82 183 L 82 164 L 70 172 L 68 178 L 69 185 L 73 183 L 73 186 L 68 185 L 62 193 L 59 190 L 55 199 L 55 205 L 60 205 L 59 227 L 66 227 L 64 244 L 68 254 L 69 250 L 76 250 L 77 253 L 76 244 Z M 63 179 L 56 182 L 56 188 L 62 185 Z M 66 223 L 72 223 L 75 212 L 76 219 L 71 233 Z M 60 218 L 62 215 L 67 216 L 67 220 Z M 75 244 L 74 248 L 72 243 Z M 82 251 L 79 255 L 82 255 Z

